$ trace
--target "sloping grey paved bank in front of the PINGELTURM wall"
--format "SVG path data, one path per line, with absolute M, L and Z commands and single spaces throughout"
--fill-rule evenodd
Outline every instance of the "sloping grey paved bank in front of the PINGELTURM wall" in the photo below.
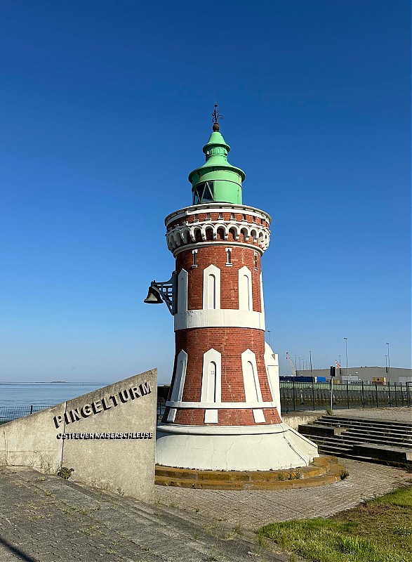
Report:
M 286 562 L 204 514 L 0 468 L 0 562 Z

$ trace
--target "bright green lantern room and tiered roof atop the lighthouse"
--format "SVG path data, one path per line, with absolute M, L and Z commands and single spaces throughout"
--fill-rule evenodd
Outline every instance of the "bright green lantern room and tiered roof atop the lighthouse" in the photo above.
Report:
M 194 205 L 208 202 L 241 204 L 241 183 L 245 173 L 227 162 L 230 146 L 218 128 L 218 124 L 213 126 L 213 133 L 204 145 L 206 162 L 189 174 Z

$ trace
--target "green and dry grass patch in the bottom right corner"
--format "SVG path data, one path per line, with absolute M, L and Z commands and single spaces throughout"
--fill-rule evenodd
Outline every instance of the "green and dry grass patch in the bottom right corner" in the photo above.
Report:
M 270 523 L 258 539 L 312 562 L 411 562 L 412 486 L 331 518 Z

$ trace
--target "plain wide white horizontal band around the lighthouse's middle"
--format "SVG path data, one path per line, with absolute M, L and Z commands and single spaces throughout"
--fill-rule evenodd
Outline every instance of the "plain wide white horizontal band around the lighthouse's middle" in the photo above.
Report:
M 265 329 L 265 315 L 255 311 L 238 311 L 237 308 L 187 311 L 175 314 L 175 332 L 187 328 L 253 328 Z

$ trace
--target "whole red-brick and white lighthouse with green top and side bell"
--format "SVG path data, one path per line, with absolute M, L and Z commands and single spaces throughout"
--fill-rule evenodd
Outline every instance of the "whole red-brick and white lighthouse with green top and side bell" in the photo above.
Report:
M 146 302 L 174 317 L 175 362 L 157 428 L 157 463 L 187 469 L 270 470 L 309 464 L 317 447 L 281 419 L 279 367 L 265 343 L 261 258 L 270 216 L 242 203 L 245 174 L 219 131 L 189 174 L 192 206 L 165 219 L 175 272 Z

